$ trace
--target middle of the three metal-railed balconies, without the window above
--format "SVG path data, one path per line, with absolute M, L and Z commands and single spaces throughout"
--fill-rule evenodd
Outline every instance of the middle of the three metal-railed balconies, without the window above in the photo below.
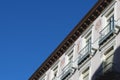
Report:
M 79 53 L 78 65 L 83 63 L 90 56 L 90 53 L 91 53 L 91 43 L 88 43 Z

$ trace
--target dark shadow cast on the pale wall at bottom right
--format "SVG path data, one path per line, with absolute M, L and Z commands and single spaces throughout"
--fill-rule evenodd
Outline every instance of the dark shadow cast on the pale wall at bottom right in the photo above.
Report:
M 103 62 L 91 80 L 120 80 L 120 46 L 114 52 L 113 61 L 107 65 Z

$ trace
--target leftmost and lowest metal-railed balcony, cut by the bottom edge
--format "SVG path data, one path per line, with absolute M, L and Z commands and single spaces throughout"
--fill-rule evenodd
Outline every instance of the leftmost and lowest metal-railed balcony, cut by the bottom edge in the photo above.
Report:
M 71 61 L 63 68 L 60 80 L 66 80 L 70 78 L 73 73 L 74 73 L 73 62 Z

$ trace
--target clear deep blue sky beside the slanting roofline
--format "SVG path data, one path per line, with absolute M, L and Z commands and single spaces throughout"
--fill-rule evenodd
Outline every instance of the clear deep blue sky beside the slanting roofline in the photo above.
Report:
M 0 80 L 28 80 L 97 0 L 0 0 Z

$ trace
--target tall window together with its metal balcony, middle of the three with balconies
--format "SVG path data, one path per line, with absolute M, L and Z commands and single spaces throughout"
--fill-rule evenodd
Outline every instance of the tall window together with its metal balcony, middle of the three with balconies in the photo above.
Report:
M 92 39 L 92 28 L 88 28 L 88 30 L 86 30 L 85 33 L 83 33 L 82 35 L 82 44 L 84 45 L 79 53 L 78 56 L 78 65 L 81 65 L 82 63 L 84 63 L 86 60 L 89 59 L 90 57 L 90 53 L 91 53 L 91 39 Z

